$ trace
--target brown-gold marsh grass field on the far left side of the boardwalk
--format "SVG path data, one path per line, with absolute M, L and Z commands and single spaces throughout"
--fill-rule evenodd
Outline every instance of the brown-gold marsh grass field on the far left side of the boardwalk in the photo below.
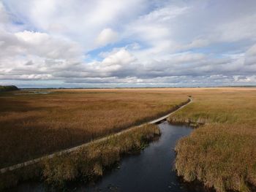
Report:
M 138 125 L 186 100 L 186 93 L 165 89 L 0 93 L 0 167 Z

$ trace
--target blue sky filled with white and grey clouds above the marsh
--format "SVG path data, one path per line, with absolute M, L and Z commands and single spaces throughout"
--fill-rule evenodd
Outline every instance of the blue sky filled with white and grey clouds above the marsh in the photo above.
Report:
M 256 1 L 0 0 L 0 85 L 256 85 Z

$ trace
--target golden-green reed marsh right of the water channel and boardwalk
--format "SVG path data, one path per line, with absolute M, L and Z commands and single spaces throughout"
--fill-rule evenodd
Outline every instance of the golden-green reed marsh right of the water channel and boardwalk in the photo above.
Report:
M 199 128 L 176 145 L 176 169 L 217 191 L 250 191 L 256 185 L 256 89 L 191 92 L 194 102 L 169 118 Z

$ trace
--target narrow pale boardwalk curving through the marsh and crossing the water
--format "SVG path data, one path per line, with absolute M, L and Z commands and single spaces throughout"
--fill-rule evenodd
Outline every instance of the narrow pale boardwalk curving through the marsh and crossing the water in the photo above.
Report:
M 177 112 L 178 110 L 181 110 L 182 108 L 186 107 L 188 104 L 191 104 L 192 101 L 193 101 L 192 98 L 189 97 L 189 101 L 188 101 L 187 103 L 181 105 L 180 107 L 178 107 L 178 108 L 177 108 L 176 110 L 174 110 L 173 112 L 170 112 L 169 114 L 167 114 L 167 115 L 165 115 L 165 116 L 163 116 L 163 117 L 161 117 L 161 118 L 157 118 L 156 120 L 151 120 L 150 122 L 148 122 L 148 124 L 159 123 L 159 122 L 161 122 L 162 120 L 167 119 L 167 118 L 168 118 L 170 115 L 172 115 L 174 112 Z M 67 149 L 67 150 L 61 150 L 61 151 L 59 151 L 59 152 L 52 153 L 52 154 L 50 154 L 50 155 L 42 156 L 41 158 L 34 158 L 34 159 L 30 160 L 30 161 L 26 161 L 26 162 L 23 162 L 23 163 L 20 163 L 20 164 L 15 164 L 15 165 L 13 165 L 13 166 L 5 167 L 5 168 L 3 168 L 3 169 L 0 169 L 0 173 L 1 173 L 1 174 L 4 174 L 5 172 L 13 171 L 13 170 L 15 170 L 15 169 L 20 169 L 20 168 L 22 168 L 22 167 L 24 167 L 24 166 L 29 166 L 29 165 L 32 165 L 32 164 L 36 164 L 36 163 L 38 163 L 39 161 L 42 161 L 42 160 L 45 159 L 45 158 L 53 158 L 53 157 L 56 156 L 56 155 L 62 155 L 62 154 L 65 154 L 65 153 L 71 153 L 71 152 L 73 152 L 73 151 L 75 151 L 75 150 L 80 149 L 81 147 L 86 147 L 86 146 L 88 146 L 88 145 L 91 145 L 92 143 L 97 143 L 97 142 L 105 141 L 106 139 L 108 139 L 108 137 L 113 137 L 113 136 L 117 136 L 117 135 L 120 135 L 120 134 L 124 134 L 124 133 L 126 133 L 126 132 L 128 132 L 128 131 L 132 131 L 133 129 L 138 128 L 138 127 L 141 127 L 141 126 L 144 126 L 144 125 L 146 125 L 146 124 L 147 124 L 147 123 L 143 123 L 143 124 L 141 124 L 140 126 L 132 126 L 131 128 L 127 128 L 127 129 L 125 129 L 125 130 L 123 130 L 123 131 L 120 131 L 120 132 L 118 132 L 118 133 L 116 133 L 116 134 L 110 134 L 110 135 L 108 135 L 108 136 L 106 136 L 106 137 L 102 137 L 101 139 L 95 139 L 95 140 L 92 141 L 92 142 L 86 142 L 86 143 L 83 144 L 83 145 L 78 145 L 78 146 L 76 146 L 76 147 L 72 147 L 72 148 L 69 148 L 69 149 Z

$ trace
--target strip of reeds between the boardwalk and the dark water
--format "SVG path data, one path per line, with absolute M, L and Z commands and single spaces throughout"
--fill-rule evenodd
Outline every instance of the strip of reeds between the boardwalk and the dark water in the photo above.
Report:
M 157 126 L 145 125 L 108 137 L 73 153 L 45 159 L 36 166 L 2 174 L 0 189 L 15 185 L 19 180 L 34 177 L 41 177 L 46 183 L 58 188 L 78 179 L 86 183 L 91 182 L 101 177 L 105 169 L 118 162 L 122 155 L 139 152 L 159 134 Z

